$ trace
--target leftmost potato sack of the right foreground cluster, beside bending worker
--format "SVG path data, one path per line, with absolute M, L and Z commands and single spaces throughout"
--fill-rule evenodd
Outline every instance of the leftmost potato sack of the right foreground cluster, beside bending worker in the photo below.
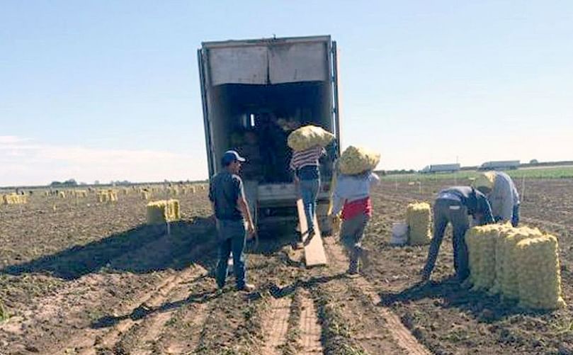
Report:
M 499 225 L 472 227 L 465 235 L 473 291 L 487 291 L 495 281 Z

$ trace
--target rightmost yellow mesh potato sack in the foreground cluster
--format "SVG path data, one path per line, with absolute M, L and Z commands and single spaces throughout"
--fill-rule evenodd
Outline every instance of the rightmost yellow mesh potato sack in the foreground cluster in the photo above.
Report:
M 519 305 L 523 308 L 554 310 L 565 306 L 557 238 L 552 235 L 518 242 Z

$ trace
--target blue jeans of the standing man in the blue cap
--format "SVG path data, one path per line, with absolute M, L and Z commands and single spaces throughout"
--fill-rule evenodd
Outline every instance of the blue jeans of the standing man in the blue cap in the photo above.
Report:
M 243 249 L 246 240 L 246 230 L 243 220 L 217 220 L 217 235 L 220 240 L 219 261 L 215 279 L 217 286 L 225 286 L 227 278 L 227 261 L 233 252 L 233 273 L 237 280 L 237 288 L 245 285 L 245 263 Z

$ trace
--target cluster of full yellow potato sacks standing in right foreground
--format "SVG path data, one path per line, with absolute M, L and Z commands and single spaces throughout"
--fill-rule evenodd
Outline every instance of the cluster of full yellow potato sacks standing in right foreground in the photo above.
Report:
M 465 240 L 472 290 L 519 300 L 523 308 L 565 305 L 557 238 L 530 227 L 484 225 L 468 230 Z

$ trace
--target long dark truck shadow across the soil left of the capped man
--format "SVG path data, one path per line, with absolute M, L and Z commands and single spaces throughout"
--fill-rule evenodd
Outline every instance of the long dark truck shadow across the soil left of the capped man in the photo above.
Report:
M 76 245 L 23 264 L 6 266 L 0 274 L 45 273 L 74 280 L 106 269 L 137 274 L 183 269 L 192 262 L 210 267 L 216 254 L 215 224 L 209 218 L 179 221 L 166 226 L 140 225 L 96 242 Z

